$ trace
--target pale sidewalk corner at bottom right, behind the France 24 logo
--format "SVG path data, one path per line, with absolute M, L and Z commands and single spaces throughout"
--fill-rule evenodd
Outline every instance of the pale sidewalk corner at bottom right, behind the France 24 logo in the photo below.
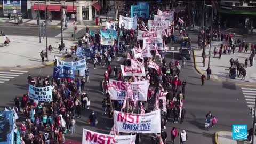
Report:
M 232 132 L 220 131 L 215 133 L 215 142 L 216 144 L 247 144 L 251 141 L 246 140 L 233 140 Z M 256 136 L 254 135 L 254 143 L 256 143 Z

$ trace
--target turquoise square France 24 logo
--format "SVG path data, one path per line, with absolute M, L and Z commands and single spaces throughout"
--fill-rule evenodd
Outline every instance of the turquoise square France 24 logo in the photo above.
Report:
M 233 140 L 247 139 L 247 125 L 232 125 L 232 139 Z

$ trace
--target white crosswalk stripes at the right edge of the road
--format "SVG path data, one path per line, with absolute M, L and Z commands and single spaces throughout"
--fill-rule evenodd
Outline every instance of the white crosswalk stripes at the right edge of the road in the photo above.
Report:
M 252 117 L 254 115 L 254 105 L 256 100 L 256 88 L 251 87 L 242 87 L 242 92 L 244 94 L 245 101 L 247 106 L 252 107 Z

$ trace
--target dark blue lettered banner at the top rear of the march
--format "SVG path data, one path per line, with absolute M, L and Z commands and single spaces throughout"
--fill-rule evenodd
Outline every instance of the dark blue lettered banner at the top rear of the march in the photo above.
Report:
M 149 5 L 131 5 L 131 17 L 149 18 Z

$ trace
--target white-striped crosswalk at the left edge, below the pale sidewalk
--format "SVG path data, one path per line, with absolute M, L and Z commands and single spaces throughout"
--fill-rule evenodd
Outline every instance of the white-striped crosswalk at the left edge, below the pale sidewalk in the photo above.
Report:
M 28 73 L 24 70 L 10 70 L 10 71 L 0 71 L 0 83 L 5 83 L 12 78 Z

